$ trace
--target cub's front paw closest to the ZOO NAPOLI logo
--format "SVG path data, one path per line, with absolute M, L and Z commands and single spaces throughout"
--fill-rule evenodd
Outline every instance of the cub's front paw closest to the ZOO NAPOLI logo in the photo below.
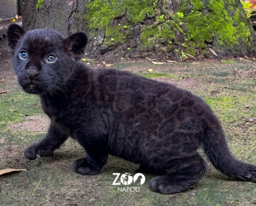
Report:
M 80 158 L 73 163 L 73 169 L 82 175 L 95 175 L 101 172 L 102 167 L 90 165 L 87 158 Z

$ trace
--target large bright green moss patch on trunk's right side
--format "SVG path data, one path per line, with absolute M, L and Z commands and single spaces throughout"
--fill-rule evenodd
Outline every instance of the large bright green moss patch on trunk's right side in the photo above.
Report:
M 232 48 L 234 44 L 239 45 L 239 38 L 249 46 L 248 37 L 251 32 L 248 25 L 241 22 L 241 12 L 244 11 L 237 10 L 232 18 L 226 10 L 227 6 L 234 3 L 233 0 L 225 3 L 221 0 L 210 0 L 207 5 L 199 0 L 191 3 L 194 12 L 187 13 L 184 21 L 187 25 L 187 39 L 194 48 L 205 48 L 205 42 L 212 40 Z M 203 8 L 209 9 L 209 12 L 204 14 Z

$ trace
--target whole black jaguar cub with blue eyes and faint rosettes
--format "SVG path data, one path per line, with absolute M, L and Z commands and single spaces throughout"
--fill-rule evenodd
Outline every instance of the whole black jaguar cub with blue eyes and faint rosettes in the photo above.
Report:
M 201 98 L 177 87 L 81 62 L 84 32 L 67 39 L 49 28 L 7 31 L 19 84 L 41 98 L 51 123 L 45 138 L 25 157 L 50 155 L 70 136 L 87 157 L 74 162 L 83 175 L 100 173 L 108 154 L 139 163 L 155 192 L 182 192 L 206 173 L 197 153 L 203 145 L 213 165 L 237 180 L 256 182 L 256 167 L 229 152 L 218 119 Z

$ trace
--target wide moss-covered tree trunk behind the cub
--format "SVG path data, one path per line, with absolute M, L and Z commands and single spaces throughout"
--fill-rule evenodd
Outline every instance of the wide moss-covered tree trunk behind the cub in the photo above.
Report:
M 240 0 L 23 0 L 26 30 L 85 31 L 86 57 L 254 55 L 256 36 Z M 211 49 L 209 49 L 211 48 Z

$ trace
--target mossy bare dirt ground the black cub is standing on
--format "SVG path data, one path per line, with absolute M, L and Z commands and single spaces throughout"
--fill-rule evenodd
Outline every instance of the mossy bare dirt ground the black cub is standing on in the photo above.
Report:
M 110 156 L 98 175 L 74 173 L 72 162 L 86 154 L 73 140 L 65 142 L 51 157 L 25 159 L 24 149 L 43 138 L 49 119 L 41 110 L 39 98 L 19 88 L 6 46 L 6 42 L 0 44 L 0 80 L 4 78 L 0 82 L 0 169 L 27 171 L 0 175 L 0 205 L 256 204 L 255 183 L 229 179 L 210 162 L 209 171 L 193 188 L 182 194 L 162 195 L 150 191 L 148 185 L 154 175 L 146 173 L 146 182 L 139 192 L 118 192 L 118 186 L 112 185 L 113 173 L 139 172 L 137 164 L 121 158 Z M 113 67 L 173 83 L 201 96 L 221 121 L 232 153 L 238 159 L 256 164 L 256 61 L 154 65 L 148 60 L 122 60 Z M 147 72 L 148 69 L 153 71 Z

